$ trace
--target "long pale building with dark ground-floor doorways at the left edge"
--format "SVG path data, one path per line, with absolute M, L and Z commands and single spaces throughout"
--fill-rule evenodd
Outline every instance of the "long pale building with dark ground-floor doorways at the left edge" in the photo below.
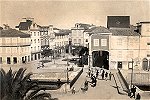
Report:
M 0 31 L 1 64 L 18 64 L 31 60 L 30 34 L 9 27 Z

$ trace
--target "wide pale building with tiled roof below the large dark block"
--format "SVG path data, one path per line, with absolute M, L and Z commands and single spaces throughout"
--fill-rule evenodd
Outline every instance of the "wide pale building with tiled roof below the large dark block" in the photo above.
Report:
M 132 28 L 110 29 L 110 31 L 112 32 L 109 50 L 110 68 L 132 68 L 132 61 L 139 58 L 140 34 Z

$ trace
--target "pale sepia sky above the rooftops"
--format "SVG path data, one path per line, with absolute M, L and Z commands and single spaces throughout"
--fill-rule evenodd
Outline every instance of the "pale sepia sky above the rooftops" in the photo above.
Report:
M 25 17 L 57 28 L 107 26 L 107 16 L 130 16 L 132 25 L 150 21 L 150 0 L 0 0 L 0 26 L 12 28 Z

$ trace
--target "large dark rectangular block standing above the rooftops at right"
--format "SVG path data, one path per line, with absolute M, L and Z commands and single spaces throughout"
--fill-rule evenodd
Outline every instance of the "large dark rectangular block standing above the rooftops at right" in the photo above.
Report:
M 130 16 L 107 16 L 107 28 L 129 28 Z

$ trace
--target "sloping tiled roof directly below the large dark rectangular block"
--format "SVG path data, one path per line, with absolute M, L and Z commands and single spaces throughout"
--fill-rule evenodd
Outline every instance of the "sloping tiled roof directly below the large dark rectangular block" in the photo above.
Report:
M 112 35 L 115 36 L 139 36 L 140 34 L 135 32 L 133 28 L 116 28 L 109 29 Z

